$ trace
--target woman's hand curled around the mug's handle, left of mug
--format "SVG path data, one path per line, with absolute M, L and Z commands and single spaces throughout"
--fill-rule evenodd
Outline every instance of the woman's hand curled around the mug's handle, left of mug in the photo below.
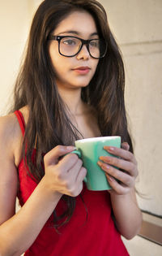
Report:
M 73 146 L 57 145 L 45 154 L 43 179 L 50 191 L 76 197 L 83 189 L 87 170 L 76 154 L 69 154 L 73 150 Z M 62 156 L 64 157 L 61 158 Z

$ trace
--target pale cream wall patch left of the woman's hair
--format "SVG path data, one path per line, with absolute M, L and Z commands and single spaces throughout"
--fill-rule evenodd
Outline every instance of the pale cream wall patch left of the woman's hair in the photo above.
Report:
M 11 92 L 23 47 L 28 38 L 32 13 L 38 0 L 0 0 L 0 115 L 4 115 L 11 101 Z

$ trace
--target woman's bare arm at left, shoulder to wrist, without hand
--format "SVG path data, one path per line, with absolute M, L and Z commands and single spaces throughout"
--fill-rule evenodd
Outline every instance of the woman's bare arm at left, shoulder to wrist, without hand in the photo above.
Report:
M 19 125 L 19 124 L 18 124 Z M 20 132 L 13 115 L 0 118 L 0 255 L 22 254 L 40 232 L 58 203 L 60 195 L 49 193 L 42 182 L 15 215 L 18 173 L 15 147 Z M 21 135 L 21 134 L 20 134 Z

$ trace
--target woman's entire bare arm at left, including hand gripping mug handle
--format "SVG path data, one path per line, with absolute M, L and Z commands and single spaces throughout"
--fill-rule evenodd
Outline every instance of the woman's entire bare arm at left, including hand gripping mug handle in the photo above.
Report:
M 10 124 L 11 123 L 11 124 Z M 9 125 L 10 124 L 10 125 Z M 83 188 L 86 170 L 74 147 L 57 146 L 45 155 L 45 176 L 28 201 L 15 214 L 18 174 L 15 167 L 15 127 L 6 118 L 0 119 L 0 255 L 23 254 L 36 240 L 40 230 L 66 193 L 77 196 Z

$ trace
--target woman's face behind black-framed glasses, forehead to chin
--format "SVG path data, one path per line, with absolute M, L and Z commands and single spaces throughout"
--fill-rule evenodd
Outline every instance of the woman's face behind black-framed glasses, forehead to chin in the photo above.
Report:
M 99 38 L 95 21 L 86 11 L 74 11 L 62 20 L 53 32 L 54 36 L 80 37 L 84 40 Z M 70 41 L 65 42 L 71 44 Z M 68 46 L 69 47 L 69 46 Z M 85 87 L 96 72 L 98 59 L 94 59 L 83 45 L 74 57 L 65 57 L 58 52 L 58 41 L 50 41 L 49 55 L 57 74 L 58 87 L 69 89 Z

